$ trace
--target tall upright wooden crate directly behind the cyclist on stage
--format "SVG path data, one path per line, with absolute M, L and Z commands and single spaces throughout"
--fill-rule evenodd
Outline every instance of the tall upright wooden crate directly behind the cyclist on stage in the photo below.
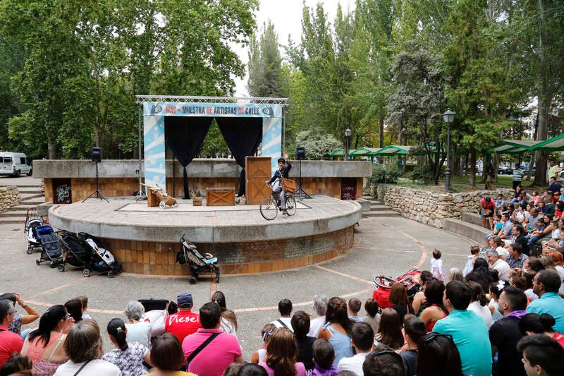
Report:
M 247 157 L 245 159 L 245 183 L 247 204 L 257 205 L 270 196 L 270 189 L 264 183 L 271 178 L 271 157 Z

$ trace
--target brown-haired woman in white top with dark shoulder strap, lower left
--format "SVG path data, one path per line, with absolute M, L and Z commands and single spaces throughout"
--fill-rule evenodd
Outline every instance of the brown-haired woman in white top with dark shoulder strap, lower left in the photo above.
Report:
M 31 334 L 30 334 L 31 335 Z M 120 376 L 116 365 L 102 360 L 100 328 L 94 320 L 82 320 L 68 330 L 64 344 L 68 361 L 57 368 L 55 376 Z

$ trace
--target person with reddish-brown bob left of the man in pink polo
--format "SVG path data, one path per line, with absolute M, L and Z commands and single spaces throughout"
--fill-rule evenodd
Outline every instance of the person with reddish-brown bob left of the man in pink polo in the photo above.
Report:
M 178 371 L 185 362 L 178 338 L 170 333 L 154 340 L 151 348 L 151 363 L 154 369 L 145 376 L 197 376 L 190 372 Z

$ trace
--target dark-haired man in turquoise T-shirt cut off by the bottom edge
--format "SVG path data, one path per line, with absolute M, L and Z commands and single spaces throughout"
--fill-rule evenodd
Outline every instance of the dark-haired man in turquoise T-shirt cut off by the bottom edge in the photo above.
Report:
M 433 332 L 450 334 L 460 353 L 462 373 L 491 376 L 491 343 L 482 317 L 467 310 L 472 290 L 464 282 L 446 285 L 443 305 L 450 314 L 436 322 Z

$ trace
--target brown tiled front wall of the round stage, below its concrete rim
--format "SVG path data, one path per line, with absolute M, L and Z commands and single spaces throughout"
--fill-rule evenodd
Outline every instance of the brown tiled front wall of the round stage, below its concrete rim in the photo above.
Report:
M 222 274 L 274 272 L 330 260 L 352 250 L 354 227 L 327 234 L 278 241 L 197 244 L 200 253 L 218 257 Z M 188 265 L 176 263 L 177 243 L 105 239 L 124 272 L 188 275 Z M 170 249 L 169 249 L 170 248 Z M 213 248 L 213 249 L 212 249 Z M 171 251 L 172 250 L 172 251 Z

